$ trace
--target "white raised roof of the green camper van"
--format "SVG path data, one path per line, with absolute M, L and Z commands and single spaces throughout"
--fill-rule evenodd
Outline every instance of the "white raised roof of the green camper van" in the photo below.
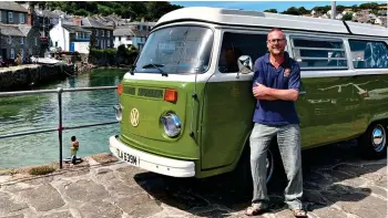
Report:
M 171 11 L 164 14 L 155 27 L 178 21 L 203 21 L 224 25 L 266 27 L 285 30 L 388 37 L 387 28 L 372 24 L 210 7 L 187 7 Z

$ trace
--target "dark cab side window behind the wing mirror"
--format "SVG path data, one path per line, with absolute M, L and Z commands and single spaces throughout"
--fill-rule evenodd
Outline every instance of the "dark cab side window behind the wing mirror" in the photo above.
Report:
M 255 63 L 256 59 L 267 52 L 266 34 L 225 32 L 223 37 L 218 71 L 222 73 L 238 72 L 237 59 L 249 55 Z

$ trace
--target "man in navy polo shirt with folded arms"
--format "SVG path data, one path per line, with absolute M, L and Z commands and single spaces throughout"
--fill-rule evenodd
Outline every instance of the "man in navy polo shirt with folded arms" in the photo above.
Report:
M 251 168 L 254 184 L 252 207 L 254 216 L 268 209 L 266 188 L 266 155 L 269 143 L 277 136 L 280 156 L 287 174 L 285 203 L 295 217 L 307 217 L 303 210 L 299 118 L 295 110 L 300 87 L 300 70 L 284 51 L 287 44 L 282 30 L 273 29 L 267 37 L 268 53 L 258 58 L 254 66 L 253 95 L 257 104 L 251 135 Z

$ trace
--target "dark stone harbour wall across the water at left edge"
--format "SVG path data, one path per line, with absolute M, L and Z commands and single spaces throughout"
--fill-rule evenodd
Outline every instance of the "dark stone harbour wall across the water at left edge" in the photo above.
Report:
M 73 74 L 73 65 L 37 65 L 2 71 L 0 72 L 0 92 L 30 90 Z

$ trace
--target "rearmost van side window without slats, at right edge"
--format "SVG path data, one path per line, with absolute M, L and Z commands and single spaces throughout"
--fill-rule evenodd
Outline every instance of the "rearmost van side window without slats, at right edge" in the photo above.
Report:
M 388 49 L 385 42 L 349 40 L 355 69 L 388 69 Z

